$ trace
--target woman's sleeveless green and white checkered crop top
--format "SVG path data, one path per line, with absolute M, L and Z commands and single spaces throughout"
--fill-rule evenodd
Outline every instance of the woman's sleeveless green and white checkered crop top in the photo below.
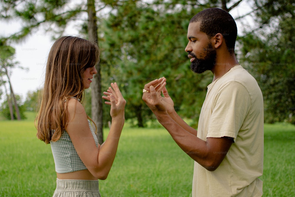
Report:
M 98 140 L 89 120 L 88 124 L 97 147 Z M 54 130 L 52 130 L 51 132 L 53 134 Z M 50 141 L 50 146 L 55 163 L 55 171 L 57 173 L 74 172 L 87 169 L 78 156 L 76 149 L 71 141 L 71 138 L 66 131 L 63 132 L 58 141 Z

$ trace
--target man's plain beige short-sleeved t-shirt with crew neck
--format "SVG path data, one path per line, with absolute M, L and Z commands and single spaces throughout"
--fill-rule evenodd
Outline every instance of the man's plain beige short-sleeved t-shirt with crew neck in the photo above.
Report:
M 208 85 L 197 137 L 234 138 L 215 171 L 194 162 L 192 197 L 262 196 L 263 97 L 256 80 L 234 66 Z

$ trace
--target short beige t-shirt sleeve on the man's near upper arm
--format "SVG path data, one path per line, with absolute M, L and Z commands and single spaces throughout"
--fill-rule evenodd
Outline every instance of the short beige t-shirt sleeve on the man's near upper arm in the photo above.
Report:
M 231 81 L 219 89 L 212 105 L 208 137 L 232 137 L 234 141 L 251 107 L 248 90 Z

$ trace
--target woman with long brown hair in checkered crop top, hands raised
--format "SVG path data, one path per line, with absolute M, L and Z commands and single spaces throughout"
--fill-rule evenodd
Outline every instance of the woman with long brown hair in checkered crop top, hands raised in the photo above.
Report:
M 81 104 L 98 61 L 96 44 L 71 36 L 56 40 L 48 55 L 35 124 L 38 139 L 51 145 L 57 172 L 53 196 L 100 196 L 97 179 L 106 179 L 114 162 L 126 103 L 118 85 L 112 83 L 104 92 L 105 103 L 111 105 L 112 125 L 103 144 L 98 144 Z

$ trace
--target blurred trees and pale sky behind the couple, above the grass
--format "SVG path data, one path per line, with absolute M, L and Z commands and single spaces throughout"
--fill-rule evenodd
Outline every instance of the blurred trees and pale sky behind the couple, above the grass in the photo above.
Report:
M 235 53 L 263 92 L 265 122 L 295 124 L 294 1 L 0 2 L 1 119 L 25 119 L 25 111 L 37 110 L 50 47 L 60 36 L 74 35 L 96 41 L 101 51 L 99 73 L 83 101 L 98 131 L 110 120 L 101 95 L 111 82 L 127 101 L 130 125 L 159 126 L 141 97 L 144 84 L 162 76 L 176 111 L 196 128 L 213 75 L 190 70 L 187 27 L 199 11 L 219 7 L 237 23 Z

